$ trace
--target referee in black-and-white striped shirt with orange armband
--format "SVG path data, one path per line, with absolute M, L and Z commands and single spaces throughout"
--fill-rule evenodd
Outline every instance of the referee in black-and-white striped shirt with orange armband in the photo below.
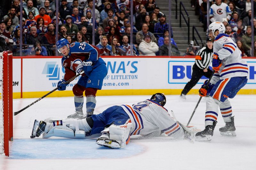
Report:
M 213 42 L 210 37 L 206 39 L 206 47 L 201 48 L 196 54 L 196 62 L 193 65 L 191 80 L 185 85 L 180 98 L 185 100 L 187 93 L 196 85 L 202 76 L 210 78 L 212 70 L 209 65 L 212 63 Z

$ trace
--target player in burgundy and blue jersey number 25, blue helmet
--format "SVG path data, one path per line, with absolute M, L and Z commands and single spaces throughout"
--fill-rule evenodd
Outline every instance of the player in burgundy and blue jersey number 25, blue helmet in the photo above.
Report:
M 69 115 L 69 118 L 83 118 L 93 115 L 96 106 L 96 92 L 102 87 L 102 82 L 107 75 L 106 63 L 99 56 L 99 48 L 80 42 L 73 42 L 71 44 L 64 38 L 56 43 L 56 47 L 62 57 L 62 67 L 65 68 L 64 78 L 58 82 L 58 90 L 66 90 L 64 84 L 70 78 L 74 77 L 76 73 L 84 70 L 82 77 L 73 87 L 75 95 L 75 114 Z M 83 114 L 84 96 L 86 96 L 86 114 Z

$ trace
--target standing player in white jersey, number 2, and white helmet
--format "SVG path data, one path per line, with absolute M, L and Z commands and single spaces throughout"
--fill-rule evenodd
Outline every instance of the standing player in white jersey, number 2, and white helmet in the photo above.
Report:
M 206 86 L 207 81 L 199 90 L 200 96 L 209 94 L 206 101 L 205 129 L 196 134 L 198 141 L 210 141 L 220 112 L 226 126 L 220 128 L 220 134 L 236 136 L 234 116 L 228 98 L 234 98 L 236 93 L 247 83 L 248 65 L 242 60 L 242 53 L 236 43 L 225 34 L 225 26 L 221 22 L 209 25 L 209 35 L 215 37 L 213 43 L 212 67 L 215 73 Z

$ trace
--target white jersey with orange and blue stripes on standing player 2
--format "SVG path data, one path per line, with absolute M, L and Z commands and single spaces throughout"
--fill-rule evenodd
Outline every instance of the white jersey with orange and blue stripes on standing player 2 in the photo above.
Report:
M 242 52 L 227 34 L 221 33 L 215 38 L 213 55 L 222 60 L 220 70 L 215 71 L 215 76 L 220 79 L 248 77 L 247 62 L 242 59 Z

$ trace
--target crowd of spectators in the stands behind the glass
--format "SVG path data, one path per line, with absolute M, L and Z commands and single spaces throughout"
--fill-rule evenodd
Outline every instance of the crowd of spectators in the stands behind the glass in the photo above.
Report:
M 131 44 L 133 55 L 169 54 L 169 24 L 155 0 L 133 0 L 132 14 L 131 0 L 95 0 L 95 10 L 93 0 L 60 0 L 59 4 L 52 0 L 23 0 L 22 26 L 20 0 L 12 0 L 10 3 L 8 11 L 0 9 L 1 51 L 12 50 L 20 55 L 22 43 L 23 55 L 56 55 L 56 36 L 58 39 L 66 38 L 69 43 L 92 44 L 94 25 L 95 45 L 100 48 L 100 55 L 130 55 Z M 251 0 L 210 0 L 210 4 L 210 21 L 223 22 L 226 33 L 239 44 L 243 56 L 255 56 L 250 52 L 252 26 L 256 34 L 256 19 L 251 23 Z M 59 9 L 58 14 L 56 7 Z M 206 31 L 207 0 L 191 0 L 191 7 L 195 8 Z M 216 12 L 218 7 L 223 10 Z M 254 8 L 256 12 L 256 4 Z M 132 28 L 131 17 L 134 21 Z M 172 55 L 183 55 L 180 54 L 172 32 L 171 37 Z

